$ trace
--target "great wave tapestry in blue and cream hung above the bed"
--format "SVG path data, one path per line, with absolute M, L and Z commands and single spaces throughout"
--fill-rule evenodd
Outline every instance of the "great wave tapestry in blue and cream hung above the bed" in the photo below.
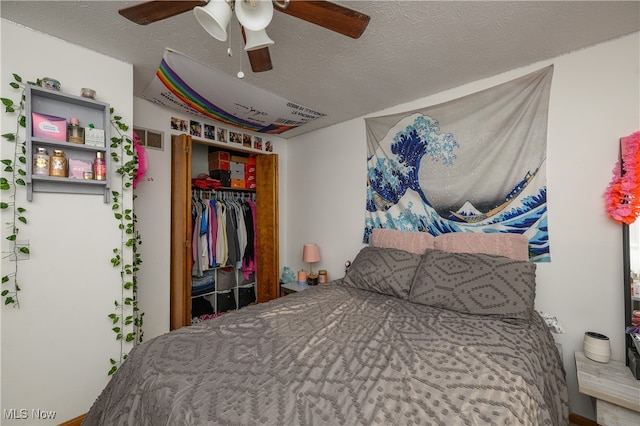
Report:
M 553 66 L 419 110 L 365 120 L 373 228 L 514 232 L 550 261 L 547 118 Z

